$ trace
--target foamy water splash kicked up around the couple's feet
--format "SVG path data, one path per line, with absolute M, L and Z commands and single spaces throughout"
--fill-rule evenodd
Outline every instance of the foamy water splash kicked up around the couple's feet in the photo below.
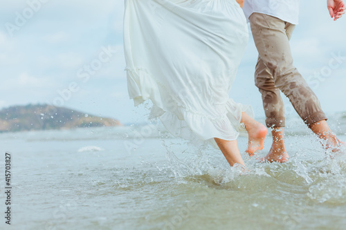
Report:
M 221 152 L 201 142 L 162 139 L 162 143 L 170 170 L 180 182 L 227 190 L 286 193 L 295 189 L 317 202 L 346 202 L 346 155 L 331 159 L 314 136 L 304 138 L 307 140 L 301 136 L 287 138 L 287 142 L 295 142 L 295 154 L 284 164 L 244 157 L 248 171 L 230 167 Z

